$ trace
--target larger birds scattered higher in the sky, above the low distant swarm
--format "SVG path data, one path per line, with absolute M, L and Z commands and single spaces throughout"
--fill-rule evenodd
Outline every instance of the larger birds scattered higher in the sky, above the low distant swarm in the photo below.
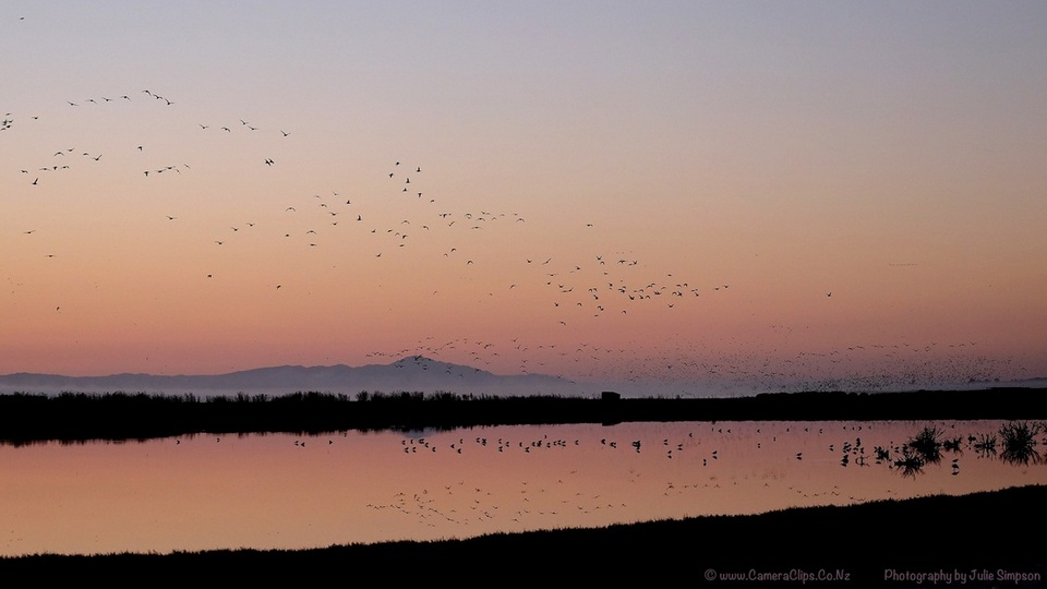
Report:
M 76 110 L 77 115 L 91 117 L 92 109 L 116 111 L 142 100 L 160 109 L 158 113 L 151 116 L 163 120 L 167 120 L 166 113 L 177 109 L 180 104 L 166 93 L 146 88 L 85 99 L 65 99 L 64 105 Z M 25 125 L 27 133 L 32 133 L 33 125 L 40 122 L 40 117 L 36 115 L 23 117 L 8 112 L 0 124 L 0 131 L 12 133 Z M 256 136 L 267 135 L 268 139 L 278 137 L 288 142 L 292 139 L 292 133 L 285 129 L 263 128 L 245 118 L 196 122 L 195 125 L 202 135 L 246 135 L 248 143 L 239 144 L 242 149 L 254 149 L 251 141 Z M 257 144 L 272 145 L 272 142 Z M 122 149 L 125 153 L 121 154 L 121 163 L 128 160 L 129 152 L 132 156 L 140 156 L 143 161 L 152 161 L 153 165 L 135 168 L 129 166 L 129 169 L 110 167 L 106 173 L 115 177 L 141 175 L 142 178 L 154 181 L 164 176 L 188 175 L 193 172 L 194 168 L 203 167 L 203 164 L 174 160 L 173 155 L 156 154 L 161 147 L 154 148 L 147 142 L 125 145 Z M 202 152 L 206 153 L 204 149 Z M 97 147 L 68 147 L 61 143 L 52 151 L 36 156 L 27 153 L 25 157 L 28 164 L 21 166 L 19 172 L 34 190 L 48 185 L 50 175 L 75 175 L 87 166 L 106 166 L 108 161 L 116 160 L 110 152 L 103 152 Z M 279 167 L 279 161 L 280 158 L 276 155 L 258 153 L 258 167 Z M 270 243 L 285 241 L 303 248 L 305 252 L 300 255 L 327 255 L 342 260 L 347 252 L 350 255 L 360 255 L 361 251 L 368 249 L 371 251 L 370 255 L 377 261 L 402 256 L 402 252 L 413 250 L 419 263 L 457 268 L 461 281 L 472 281 L 477 274 L 489 269 L 515 267 L 518 268 L 517 278 L 502 285 L 501 289 L 488 285 L 488 291 L 479 297 L 490 301 L 502 298 L 512 308 L 513 297 L 517 292 L 525 289 L 531 292 L 544 291 L 549 325 L 552 328 L 569 328 L 587 318 L 636 313 L 642 305 L 673 310 L 702 296 L 729 293 L 729 284 L 712 283 L 700 288 L 694 280 L 684 280 L 671 273 L 651 272 L 651 265 L 628 250 L 597 251 L 592 254 L 543 251 L 541 239 L 534 239 L 533 233 L 528 233 L 529 224 L 524 215 L 495 208 L 457 208 L 453 205 L 453 197 L 438 196 L 438 190 L 426 184 L 425 168 L 420 164 L 408 165 L 393 160 L 387 169 L 375 170 L 374 173 L 386 180 L 386 188 L 378 194 L 358 194 L 333 189 L 323 193 L 289 195 L 279 207 L 280 215 L 275 215 L 275 209 L 258 208 L 253 213 L 245 211 L 244 218 L 229 219 L 225 229 L 219 229 L 212 236 L 210 242 L 216 248 L 234 249 L 249 238 L 251 247 L 257 244 L 258 240 Z M 142 184 L 142 190 L 149 190 L 148 184 Z M 392 218 L 392 211 L 400 213 L 399 217 Z M 186 219 L 192 216 L 193 212 L 179 211 L 178 205 L 173 204 L 172 211 L 164 214 L 157 221 L 181 224 L 188 223 Z M 252 216 L 256 218 L 252 219 Z M 577 229 L 597 231 L 592 223 L 579 221 Z M 37 241 L 49 238 L 46 230 L 37 227 L 26 227 L 22 229 L 22 233 L 27 236 L 27 239 Z M 529 241 L 531 251 L 521 251 L 516 261 L 492 261 L 485 255 L 492 244 L 506 239 Z M 360 247 L 361 243 L 364 247 Z M 327 253 L 322 253 L 325 250 Z M 61 259 L 62 254 L 61 251 L 49 251 L 47 256 Z M 213 262 L 201 261 L 202 265 L 209 263 Z M 216 280 L 220 279 L 221 274 L 218 269 L 202 267 L 198 276 L 202 279 Z M 12 293 L 15 293 L 17 278 L 9 277 L 9 284 L 15 287 L 12 289 Z M 299 291 L 302 290 L 301 285 L 296 286 L 300 287 Z M 287 292 L 293 287 L 287 280 L 274 276 L 270 288 Z M 418 288 L 425 286 L 419 285 Z M 438 294 L 438 289 L 432 294 Z M 441 304 L 447 304 L 446 300 L 434 301 L 434 306 Z M 485 349 L 490 348 L 490 345 L 485 346 Z M 524 346 L 514 348 L 519 352 Z M 503 350 L 503 353 L 506 351 L 508 350 Z M 375 351 L 376 356 L 382 353 Z M 528 371 L 530 366 L 527 365 L 527 356 L 518 356 L 519 368 Z M 496 358 L 497 352 L 494 352 L 489 354 L 486 360 Z

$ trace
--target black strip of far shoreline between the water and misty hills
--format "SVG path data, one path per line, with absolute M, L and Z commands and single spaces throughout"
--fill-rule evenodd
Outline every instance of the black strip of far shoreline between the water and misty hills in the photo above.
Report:
M 145 393 L 0 395 L 0 444 L 147 440 L 192 434 L 446 430 L 626 421 L 1043 419 L 1042 388 L 771 393 L 665 399 L 498 397 L 454 393 L 296 393 L 197 397 Z

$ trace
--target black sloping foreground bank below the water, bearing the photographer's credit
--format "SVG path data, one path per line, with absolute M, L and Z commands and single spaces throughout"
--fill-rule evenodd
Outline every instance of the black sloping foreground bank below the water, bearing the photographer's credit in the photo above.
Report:
M 303 551 L 0 558 L 5 579 L 402 586 L 1047 587 L 1047 486 Z M 512 582 L 510 582 L 512 581 Z M 652 585 L 658 584 L 658 585 Z

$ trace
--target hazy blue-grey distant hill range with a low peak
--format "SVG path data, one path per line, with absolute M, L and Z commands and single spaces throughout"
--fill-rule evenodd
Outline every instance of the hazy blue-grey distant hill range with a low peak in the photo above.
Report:
M 356 395 L 361 390 L 399 390 L 492 395 L 580 394 L 571 381 L 547 374 L 497 375 L 461 364 L 408 356 L 389 364 L 349 366 L 270 366 L 215 375 L 111 374 L 62 376 L 16 373 L 0 375 L 0 393 L 285 393 L 316 390 Z

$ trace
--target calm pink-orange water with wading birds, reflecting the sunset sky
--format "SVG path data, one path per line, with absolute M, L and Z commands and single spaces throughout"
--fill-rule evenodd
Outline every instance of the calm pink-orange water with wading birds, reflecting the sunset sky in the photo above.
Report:
M 0 553 L 296 549 L 1047 484 L 1042 461 L 976 449 L 1002 423 L 626 423 L 0 446 Z M 896 468 L 900 446 L 925 426 L 960 438 L 959 449 L 919 471 Z M 1047 443 L 1043 433 L 1036 442 Z M 877 446 L 890 459 L 877 460 Z

